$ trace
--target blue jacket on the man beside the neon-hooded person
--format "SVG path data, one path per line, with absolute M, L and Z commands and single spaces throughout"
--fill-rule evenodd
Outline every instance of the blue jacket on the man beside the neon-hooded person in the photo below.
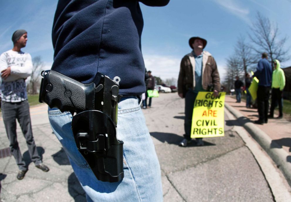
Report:
M 270 62 L 263 58 L 258 62 L 257 71 L 254 77 L 259 79 L 259 86 L 271 86 L 272 84 L 272 67 Z

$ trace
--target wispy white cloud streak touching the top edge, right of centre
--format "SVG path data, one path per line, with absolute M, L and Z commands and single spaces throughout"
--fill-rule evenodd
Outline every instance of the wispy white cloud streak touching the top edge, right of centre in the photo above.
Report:
M 216 4 L 219 4 L 224 9 L 226 9 L 228 12 L 237 16 L 238 18 L 241 18 L 248 25 L 250 25 L 250 26 L 252 25 L 251 19 L 248 17 L 248 14 L 250 13 L 249 9 L 243 8 L 243 6 L 240 5 L 239 1 L 236 1 L 236 0 L 214 0 L 214 2 L 216 2 Z

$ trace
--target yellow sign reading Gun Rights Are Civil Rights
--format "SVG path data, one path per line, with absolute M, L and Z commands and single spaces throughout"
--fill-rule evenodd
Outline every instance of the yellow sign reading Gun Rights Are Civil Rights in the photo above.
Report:
M 224 136 L 225 92 L 214 97 L 212 92 L 199 92 L 192 116 L 191 138 Z

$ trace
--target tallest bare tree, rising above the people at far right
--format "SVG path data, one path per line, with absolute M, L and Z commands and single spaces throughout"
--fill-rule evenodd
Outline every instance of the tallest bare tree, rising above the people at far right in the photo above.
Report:
M 263 52 L 267 52 L 270 62 L 274 59 L 284 62 L 290 59 L 288 51 L 290 48 L 284 49 L 287 37 L 278 38 L 279 29 L 277 23 L 270 23 L 269 18 L 264 17 L 259 12 L 257 13 L 256 21 L 251 27 L 252 35 L 249 34 L 251 42 L 254 46 L 252 49 L 260 57 Z

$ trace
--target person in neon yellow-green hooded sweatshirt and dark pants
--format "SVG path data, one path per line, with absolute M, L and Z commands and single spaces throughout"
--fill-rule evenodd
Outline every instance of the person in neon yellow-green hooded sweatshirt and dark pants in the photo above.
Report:
M 279 116 L 277 118 L 283 118 L 283 106 L 282 106 L 282 96 L 283 89 L 285 87 L 285 74 L 280 68 L 279 60 L 273 61 L 274 71 L 272 74 L 272 101 L 271 109 L 268 118 L 274 118 L 275 103 L 279 104 Z

